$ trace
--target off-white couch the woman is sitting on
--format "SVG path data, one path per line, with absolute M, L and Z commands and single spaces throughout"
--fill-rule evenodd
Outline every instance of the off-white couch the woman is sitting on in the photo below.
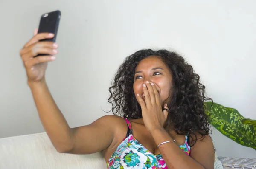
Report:
M 0 169 L 106 169 L 102 153 L 58 153 L 47 134 L 37 133 L 0 139 Z M 215 162 L 215 169 L 223 169 Z

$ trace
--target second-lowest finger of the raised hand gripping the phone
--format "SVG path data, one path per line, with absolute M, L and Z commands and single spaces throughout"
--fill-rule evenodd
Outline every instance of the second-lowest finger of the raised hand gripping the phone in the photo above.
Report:
M 58 51 L 56 49 L 52 48 L 34 48 L 33 50 L 28 51 L 26 54 L 22 55 L 22 60 L 25 62 L 28 59 L 31 59 L 38 54 L 49 54 L 49 55 L 55 55 L 58 54 Z

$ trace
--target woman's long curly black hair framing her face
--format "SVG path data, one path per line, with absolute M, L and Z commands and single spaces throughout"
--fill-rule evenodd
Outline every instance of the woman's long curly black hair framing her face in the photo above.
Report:
M 128 56 L 120 65 L 109 87 L 111 96 L 108 102 L 112 105 L 113 114 L 128 119 L 142 118 L 141 107 L 133 90 L 134 73 L 138 63 L 149 56 L 160 58 L 172 75 L 172 94 L 166 99 L 170 101 L 164 101 L 169 107 L 169 110 L 166 110 L 169 114 L 164 128 L 172 128 L 181 135 L 193 134 L 195 137 L 192 141 L 195 144 L 198 134 L 203 138 L 211 132 L 204 100 L 212 99 L 205 96 L 205 86 L 201 84 L 200 76 L 175 52 L 145 49 Z

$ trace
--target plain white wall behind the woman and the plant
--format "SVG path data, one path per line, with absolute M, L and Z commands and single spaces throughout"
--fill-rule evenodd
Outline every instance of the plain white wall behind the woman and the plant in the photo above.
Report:
M 256 1 L 0 1 L 0 138 L 44 132 L 21 59 L 44 12 L 62 12 L 59 54 L 47 82 L 70 127 L 108 110 L 108 87 L 126 56 L 141 48 L 178 51 L 194 66 L 209 97 L 256 119 Z M 219 156 L 256 158 L 213 130 Z M 236 148 L 234 148 L 236 146 Z

